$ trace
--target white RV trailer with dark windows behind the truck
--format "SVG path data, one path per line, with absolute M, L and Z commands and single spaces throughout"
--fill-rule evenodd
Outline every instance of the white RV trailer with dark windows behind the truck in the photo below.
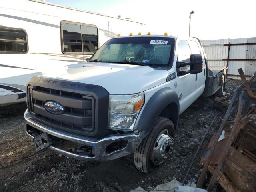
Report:
M 26 101 L 26 82 L 46 71 L 66 73 L 117 34 L 143 23 L 40 2 L 1 0 L 0 105 Z

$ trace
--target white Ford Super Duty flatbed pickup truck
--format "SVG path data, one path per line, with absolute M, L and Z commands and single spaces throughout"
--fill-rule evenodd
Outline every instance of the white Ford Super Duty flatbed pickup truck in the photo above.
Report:
M 225 75 L 208 68 L 197 38 L 118 36 L 88 62 L 28 82 L 26 132 L 37 151 L 99 161 L 134 153 L 148 173 L 172 149 L 179 115 L 201 95 L 221 96 Z

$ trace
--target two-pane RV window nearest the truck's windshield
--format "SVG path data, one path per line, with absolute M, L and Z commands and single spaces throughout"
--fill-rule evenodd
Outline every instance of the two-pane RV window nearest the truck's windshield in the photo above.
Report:
M 61 22 L 62 52 L 64 54 L 94 53 L 98 49 L 96 26 Z

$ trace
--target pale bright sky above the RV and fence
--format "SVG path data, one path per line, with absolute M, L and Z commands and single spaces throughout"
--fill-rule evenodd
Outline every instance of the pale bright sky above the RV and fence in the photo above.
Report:
M 144 32 L 201 40 L 256 36 L 256 0 L 45 0 L 145 23 Z

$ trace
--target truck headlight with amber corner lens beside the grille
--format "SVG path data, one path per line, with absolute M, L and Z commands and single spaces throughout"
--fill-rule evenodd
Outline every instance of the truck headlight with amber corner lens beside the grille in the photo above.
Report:
M 134 95 L 110 95 L 109 128 L 119 130 L 129 129 L 136 120 L 143 104 L 143 92 Z

